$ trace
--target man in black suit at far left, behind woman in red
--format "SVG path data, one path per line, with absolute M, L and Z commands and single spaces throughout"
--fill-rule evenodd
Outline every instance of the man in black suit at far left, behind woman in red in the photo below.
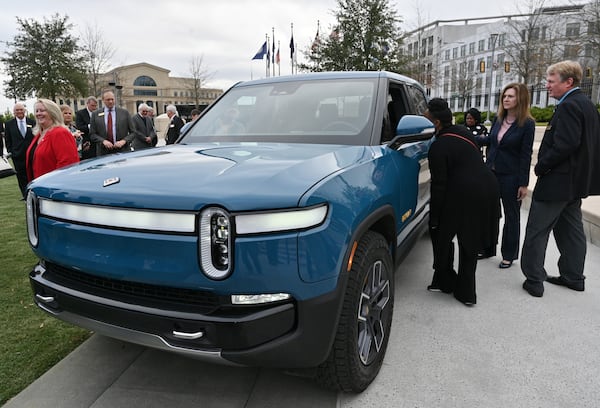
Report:
M 23 198 L 27 188 L 27 170 L 25 168 L 27 148 L 33 140 L 32 129 L 35 121 L 25 117 L 25 104 L 16 103 L 13 108 L 15 117 L 4 125 L 4 135 L 6 140 L 6 151 L 10 153 L 15 171 L 19 189 Z

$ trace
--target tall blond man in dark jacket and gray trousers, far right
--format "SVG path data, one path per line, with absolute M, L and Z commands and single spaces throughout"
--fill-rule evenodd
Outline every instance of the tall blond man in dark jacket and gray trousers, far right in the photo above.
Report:
M 600 115 L 579 89 L 582 76 L 581 65 L 573 61 L 558 62 L 546 71 L 546 89 L 558 102 L 534 168 L 538 179 L 521 255 L 527 278 L 523 289 L 535 297 L 544 294 L 544 281 L 585 289 L 581 199 L 600 194 Z M 560 252 L 559 276 L 548 276 L 544 269 L 550 232 Z

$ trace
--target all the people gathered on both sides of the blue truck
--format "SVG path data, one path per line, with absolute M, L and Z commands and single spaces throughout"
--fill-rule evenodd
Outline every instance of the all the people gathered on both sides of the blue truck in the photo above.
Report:
M 537 182 L 521 249 L 523 288 L 535 297 L 543 295 L 544 282 L 585 289 L 587 241 L 581 200 L 600 194 L 600 115 L 579 89 L 582 75 L 581 66 L 573 61 L 551 65 L 546 73 L 546 88 L 557 103 L 534 168 Z M 428 290 L 452 293 L 465 305 L 474 305 L 477 261 L 496 255 L 501 218 L 498 266 L 510 268 L 519 258 L 520 209 L 528 194 L 535 134 L 529 107 L 524 84 L 506 85 L 488 131 L 477 109 L 466 112 L 464 126 L 454 125 L 444 99 L 429 101 L 425 116 L 434 124 L 436 138 L 429 150 L 434 273 Z M 192 113 L 195 120 L 200 112 Z M 26 116 L 23 103 L 14 105 L 13 114 L 4 124 L 4 140 L 22 199 L 28 182 L 50 171 L 82 159 L 157 144 L 152 108 L 142 103 L 130 115 L 115 106 L 112 91 L 102 93 L 100 109 L 98 100 L 88 97 L 86 107 L 75 112 L 75 121 L 69 106 L 48 99 L 35 102 L 35 121 Z M 166 107 L 166 114 L 166 144 L 173 144 L 184 121 L 174 105 Z M 233 118 L 225 124 L 233 126 Z M 548 276 L 544 267 L 551 232 L 560 252 L 558 276 Z

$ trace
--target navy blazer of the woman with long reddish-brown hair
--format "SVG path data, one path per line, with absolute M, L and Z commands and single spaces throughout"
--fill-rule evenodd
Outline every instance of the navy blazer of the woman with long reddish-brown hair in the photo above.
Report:
M 502 121 L 494 121 L 490 134 L 479 139 L 480 143 L 489 146 L 486 164 L 496 174 L 518 176 L 519 186 L 527 186 L 533 154 L 535 121 L 529 118 L 523 126 L 518 126 L 515 121 L 498 143 L 501 125 Z

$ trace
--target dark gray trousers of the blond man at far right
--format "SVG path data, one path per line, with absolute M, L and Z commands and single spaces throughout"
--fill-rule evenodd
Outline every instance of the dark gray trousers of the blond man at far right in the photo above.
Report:
M 521 251 L 521 270 L 532 282 L 543 282 L 546 248 L 550 232 L 558 247 L 558 272 L 569 282 L 585 279 L 583 268 L 587 241 L 583 231 L 581 200 L 538 201 L 531 200 L 525 241 Z

